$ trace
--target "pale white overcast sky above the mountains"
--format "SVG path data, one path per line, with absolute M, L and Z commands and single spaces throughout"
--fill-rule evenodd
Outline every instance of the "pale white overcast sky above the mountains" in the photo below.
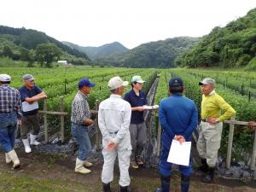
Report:
M 59 41 L 101 46 L 201 37 L 256 8 L 255 0 L 3 0 L 0 25 L 45 32 Z

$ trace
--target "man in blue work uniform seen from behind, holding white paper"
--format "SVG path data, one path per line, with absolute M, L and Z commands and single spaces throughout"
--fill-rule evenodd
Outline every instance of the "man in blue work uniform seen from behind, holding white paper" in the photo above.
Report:
M 172 139 L 190 142 L 192 132 L 197 126 L 198 113 L 195 102 L 183 96 L 183 80 L 172 78 L 169 82 L 171 96 L 160 102 L 160 125 L 163 129 L 161 141 L 162 150 L 160 157 L 161 192 L 169 192 L 172 172 L 172 163 L 167 162 Z M 191 162 L 189 166 L 179 166 L 181 172 L 181 191 L 189 191 Z

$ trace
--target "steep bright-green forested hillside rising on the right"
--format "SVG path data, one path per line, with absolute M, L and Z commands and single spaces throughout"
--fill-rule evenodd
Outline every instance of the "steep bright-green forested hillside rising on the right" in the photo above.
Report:
M 177 58 L 181 67 L 244 67 L 256 69 L 256 9 L 216 26 L 193 49 Z

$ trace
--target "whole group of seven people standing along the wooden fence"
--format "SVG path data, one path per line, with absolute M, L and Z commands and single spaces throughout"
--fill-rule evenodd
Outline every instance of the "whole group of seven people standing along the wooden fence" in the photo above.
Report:
M 36 141 L 39 131 L 38 100 L 47 98 L 43 90 L 34 84 L 31 74 L 23 76 L 24 85 L 16 90 L 9 86 L 11 77 L 0 74 L 0 143 L 6 154 L 6 163 L 13 162 L 19 167 L 20 161 L 15 153 L 15 131 L 20 127 L 20 137 L 26 153 L 32 151 L 30 145 L 38 145 Z M 102 132 L 102 189 L 110 192 L 113 181 L 113 166 L 116 157 L 119 160 L 119 186 L 121 192 L 131 191 L 129 167 L 137 169 L 143 165 L 142 153 L 146 145 L 147 128 L 143 112 L 147 105 L 147 97 L 143 92 L 141 76 L 131 79 L 131 90 L 124 95 L 128 81 L 113 77 L 108 81 L 111 93 L 102 101 L 98 110 L 98 125 Z M 235 115 L 235 110 L 215 91 L 214 79 L 206 78 L 201 85 L 201 123 L 197 141 L 197 150 L 201 156 L 199 170 L 205 172 L 202 181 L 212 182 L 217 164 L 218 148 L 223 129 L 223 121 Z M 87 160 L 90 150 L 88 131 L 94 119 L 90 113 L 88 95 L 96 84 L 90 79 L 79 80 L 78 92 L 73 99 L 71 114 L 71 132 L 79 144 L 79 155 L 76 159 L 75 172 L 90 173 L 93 164 Z M 191 141 L 192 132 L 198 125 L 198 111 L 195 102 L 183 96 L 185 86 L 180 78 L 172 78 L 169 82 L 170 96 L 160 102 L 159 117 L 162 127 L 160 156 L 160 192 L 170 191 L 172 163 L 167 161 L 172 140 L 180 143 Z M 224 113 L 222 113 L 224 111 Z M 28 137 L 29 131 L 32 133 Z M 182 153 L 182 152 L 181 152 Z M 192 173 L 191 160 L 189 166 L 179 166 L 181 172 L 181 191 L 189 191 Z

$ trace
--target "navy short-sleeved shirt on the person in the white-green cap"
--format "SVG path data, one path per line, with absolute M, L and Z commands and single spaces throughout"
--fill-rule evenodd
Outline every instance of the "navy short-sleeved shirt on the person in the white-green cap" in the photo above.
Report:
M 131 104 L 131 108 L 140 107 L 147 105 L 147 96 L 140 90 L 139 96 L 136 95 L 135 91 L 132 89 L 127 92 L 124 96 L 124 100 Z M 142 124 L 144 122 L 143 111 L 132 111 L 131 112 L 131 124 Z

